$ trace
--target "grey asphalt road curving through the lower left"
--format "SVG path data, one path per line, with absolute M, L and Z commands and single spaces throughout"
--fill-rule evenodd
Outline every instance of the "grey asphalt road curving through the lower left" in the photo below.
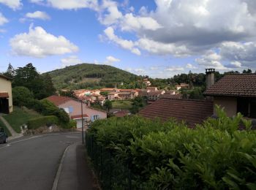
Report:
M 0 189 L 52 189 L 64 150 L 80 136 L 45 134 L 0 144 Z

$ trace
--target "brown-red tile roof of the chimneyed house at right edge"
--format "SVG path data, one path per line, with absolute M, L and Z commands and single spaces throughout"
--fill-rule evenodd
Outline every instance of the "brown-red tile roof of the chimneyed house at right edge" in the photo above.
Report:
M 204 93 L 206 96 L 256 96 L 256 74 L 225 75 Z

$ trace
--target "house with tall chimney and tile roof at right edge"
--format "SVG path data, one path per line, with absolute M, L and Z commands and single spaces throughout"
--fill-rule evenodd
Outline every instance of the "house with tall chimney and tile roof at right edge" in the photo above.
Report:
M 225 75 L 214 83 L 214 69 L 207 69 L 206 84 L 204 95 L 224 107 L 227 116 L 241 113 L 256 118 L 256 74 Z

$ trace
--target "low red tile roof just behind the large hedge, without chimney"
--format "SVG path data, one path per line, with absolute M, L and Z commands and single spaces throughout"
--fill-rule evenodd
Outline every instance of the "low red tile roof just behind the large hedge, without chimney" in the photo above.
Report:
M 213 102 L 189 99 L 158 99 L 149 104 L 139 115 L 146 118 L 176 118 L 178 121 L 187 121 L 189 126 L 202 123 L 214 113 Z

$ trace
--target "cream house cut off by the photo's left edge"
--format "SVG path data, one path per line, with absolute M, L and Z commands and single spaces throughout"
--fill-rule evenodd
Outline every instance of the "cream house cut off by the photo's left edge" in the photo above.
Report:
M 12 113 L 12 79 L 0 75 L 0 113 Z

